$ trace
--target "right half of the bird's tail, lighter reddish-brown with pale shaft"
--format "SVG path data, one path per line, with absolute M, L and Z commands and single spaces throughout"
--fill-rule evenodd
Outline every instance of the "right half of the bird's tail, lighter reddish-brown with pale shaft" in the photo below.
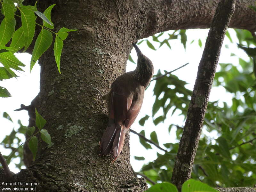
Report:
M 113 142 L 113 147 L 112 147 L 112 153 L 114 156 L 114 161 L 116 161 L 117 157 L 121 153 L 123 146 L 124 146 L 124 138 L 125 138 L 125 131 L 123 125 L 116 131 L 115 139 Z

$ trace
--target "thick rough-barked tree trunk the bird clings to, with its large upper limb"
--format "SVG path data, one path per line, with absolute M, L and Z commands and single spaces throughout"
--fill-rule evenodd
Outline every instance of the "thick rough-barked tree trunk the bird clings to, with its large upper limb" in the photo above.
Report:
M 25 1 L 34 4 L 35 1 Z M 0 181 L 38 182 L 37 191 L 144 191 L 144 179 L 130 169 L 129 137 L 116 162 L 99 157 L 99 140 L 107 111 L 96 86 L 106 93 L 125 72 L 132 41 L 169 29 L 208 28 L 217 0 L 58 1 L 52 10 L 56 31 L 76 28 L 64 42 L 61 72 L 50 48 L 40 59 L 40 108 L 53 145 L 39 143 L 33 165 L 12 180 L 0 170 Z M 56 3 L 37 3 L 40 11 Z M 240 1 L 231 27 L 255 30 L 254 0 Z M 38 32 L 37 32 L 38 33 Z M 147 97 L 147 95 L 146 95 Z M 17 186 L 18 187 L 18 186 Z

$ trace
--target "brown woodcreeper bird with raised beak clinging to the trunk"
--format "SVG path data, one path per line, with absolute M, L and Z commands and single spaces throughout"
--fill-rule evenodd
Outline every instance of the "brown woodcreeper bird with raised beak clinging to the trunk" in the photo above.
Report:
M 140 112 L 144 92 L 154 74 L 151 60 L 142 54 L 132 42 L 138 56 L 134 71 L 129 71 L 116 78 L 110 91 L 102 97 L 108 108 L 108 125 L 100 140 L 100 156 L 112 152 L 114 161 L 120 155 L 125 133 L 130 129 Z

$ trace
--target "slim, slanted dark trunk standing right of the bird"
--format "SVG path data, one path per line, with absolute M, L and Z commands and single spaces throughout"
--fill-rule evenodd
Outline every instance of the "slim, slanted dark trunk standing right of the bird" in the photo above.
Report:
M 206 39 L 172 173 L 172 183 L 177 186 L 179 191 L 182 184 L 191 176 L 221 46 L 235 4 L 236 0 L 220 1 Z

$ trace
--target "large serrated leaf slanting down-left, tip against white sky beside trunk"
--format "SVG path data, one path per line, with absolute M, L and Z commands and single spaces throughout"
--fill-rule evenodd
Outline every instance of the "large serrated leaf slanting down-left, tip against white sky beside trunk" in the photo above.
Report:
M 52 33 L 42 28 L 41 32 L 36 38 L 35 47 L 32 52 L 32 57 L 30 61 L 30 71 L 34 67 L 39 57 L 49 48 L 51 44 L 52 44 Z

